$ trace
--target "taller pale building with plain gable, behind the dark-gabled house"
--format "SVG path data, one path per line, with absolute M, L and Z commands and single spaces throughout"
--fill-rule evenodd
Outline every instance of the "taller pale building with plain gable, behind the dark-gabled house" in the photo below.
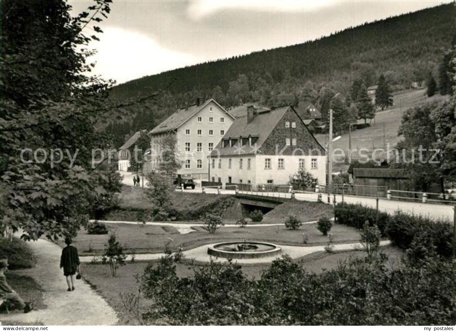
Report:
M 176 137 L 177 171 L 183 177 L 207 178 L 208 156 L 233 124 L 230 115 L 215 100 L 179 109 L 149 132 L 150 155 L 146 171 L 157 170 L 168 135 Z

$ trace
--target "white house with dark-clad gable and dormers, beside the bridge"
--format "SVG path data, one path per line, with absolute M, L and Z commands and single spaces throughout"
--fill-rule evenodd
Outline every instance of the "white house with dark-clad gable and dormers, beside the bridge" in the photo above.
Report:
M 286 185 L 306 169 L 326 184 L 326 151 L 293 107 L 249 107 L 212 151 L 210 179 L 220 183 Z

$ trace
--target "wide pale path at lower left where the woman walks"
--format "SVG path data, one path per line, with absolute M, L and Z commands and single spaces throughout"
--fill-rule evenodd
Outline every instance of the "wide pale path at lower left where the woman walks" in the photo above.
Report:
M 30 246 L 36 257 L 36 267 L 31 269 L 30 276 L 41 286 L 47 308 L 27 314 L 14 311 L 8 315 L 2 314 L 1 319 L 18 323 L 41 322 L 46 326 L 117 323 L 114 310 L 83 280 L 76 280 L 76 290 L 67 291 L 65 277 L 59 268 L 62 252 L 59 246 L 44 239 L 30 242 Z

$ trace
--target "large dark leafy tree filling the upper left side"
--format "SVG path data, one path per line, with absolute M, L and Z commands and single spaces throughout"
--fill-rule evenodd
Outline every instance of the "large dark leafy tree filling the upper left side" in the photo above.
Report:
M 0 221 L 25 239 L 75 234 L 120 188 L 114 164 L 92 163 L 94 149 L 108 158 L 110 148 L 94 124 L 120 106 L 87 61 L 111 2 L 94 0 L 76 17 L 61 0 L 0 6 Z

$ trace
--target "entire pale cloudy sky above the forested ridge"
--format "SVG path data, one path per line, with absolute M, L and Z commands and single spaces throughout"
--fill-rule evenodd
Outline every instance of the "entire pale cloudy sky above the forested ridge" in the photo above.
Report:
M 294 45 L 448 1 L 114 0 L 99 26 L 96 74 L 118 83 Z M 90 0 L 70 0 L 73 14 Z M 91 31 L 87 31 L 91 33 Z

